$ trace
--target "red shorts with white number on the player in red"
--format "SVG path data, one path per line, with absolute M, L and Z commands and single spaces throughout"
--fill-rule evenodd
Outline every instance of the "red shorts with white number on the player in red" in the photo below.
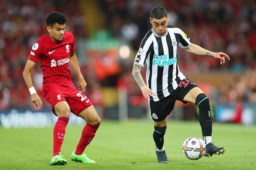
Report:
M 44 98 L 51 104 L 52 108 L 60 101 L 69 104 L 70 111 L 78 116 L 84 109 L 91 106 L 91 101 L 79 91 L 72 82 L 43 83 Z M 53 109 L 53 113 L 54 109 Z

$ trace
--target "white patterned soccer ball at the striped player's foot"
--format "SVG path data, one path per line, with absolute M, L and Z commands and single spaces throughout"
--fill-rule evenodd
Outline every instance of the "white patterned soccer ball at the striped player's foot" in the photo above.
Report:
M 199 137 L 189 137 L 182 145 L 184 155 L 191 160 L 202 158 L 205 153 L 205 149 L 204 141 Z

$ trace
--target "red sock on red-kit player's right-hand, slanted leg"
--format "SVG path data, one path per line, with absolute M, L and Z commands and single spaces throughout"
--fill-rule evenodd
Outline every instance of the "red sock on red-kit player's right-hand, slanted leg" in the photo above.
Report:
M 86 124 L 84 126 L 84 129 L 82 131 L 81 139 L 78 143 L 78 146 L 76 147 L 75 154 L 81 155 L 84 152 L 84 149 L 87 145 L 91 142 L 91 140 L 94 138 L 95 133 L 100 125 L 92 125 L 92 124 Z

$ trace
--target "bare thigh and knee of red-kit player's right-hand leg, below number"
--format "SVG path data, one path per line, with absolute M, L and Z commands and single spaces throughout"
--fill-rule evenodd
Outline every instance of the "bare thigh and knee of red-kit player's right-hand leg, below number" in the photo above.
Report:
M 87 107 L 78 114 L 79 117 L 83 118 L 87 123 L 97 125 L 100 124 L 100 116 L 97 114 L 96 109 L 93 105 Z

